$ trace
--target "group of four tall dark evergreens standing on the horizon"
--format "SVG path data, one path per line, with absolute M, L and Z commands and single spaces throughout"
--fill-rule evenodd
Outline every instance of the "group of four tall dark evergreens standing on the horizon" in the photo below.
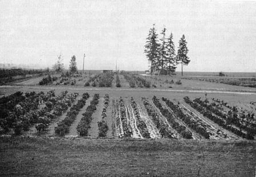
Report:
M 147 56 L 151 74 L 160 72 L 160 74 L 173 74 L 176 70 L 176 65 L 190 63 L 187 57 L 188 49 L 185 35 L 182 35 L 179 41 L 178 53 L 175 54 L 175 45 L 172 33 L 166 37 L 166 27 L 162 30 L 162 38 L 158 40 L 155 24 L 149 30 L 144 53 Z

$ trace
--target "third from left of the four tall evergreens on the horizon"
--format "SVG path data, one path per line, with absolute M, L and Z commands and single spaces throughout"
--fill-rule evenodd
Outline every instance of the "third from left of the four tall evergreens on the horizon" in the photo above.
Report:
M 173 41 L 173 36 L 172 33 L 170 35 L 170 37 L 167 39 L 167 49 L 168 49 L 168 57 L 167 57 L 167 69 L 168 69 L 168 73 L 172 74 L 175 72 L 176 69 L 176 55 L 175 55 L 175 46 L 174 46 L 174 41 Z

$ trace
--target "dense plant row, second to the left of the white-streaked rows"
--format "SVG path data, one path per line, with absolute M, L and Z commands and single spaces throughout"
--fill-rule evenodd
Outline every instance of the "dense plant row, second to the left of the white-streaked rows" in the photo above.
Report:
M 93 99 L 90 101 L 90 105 L 86 108 L 86 111 L 82 114 L 82 119 L 78 123 L 77 132 L 80 136 L 88 136 L 88 130 L 90 123 L 92 122 L 92 114 L 97 110 L 96 106 L 99 103 L 99 94 L 94 94 Z

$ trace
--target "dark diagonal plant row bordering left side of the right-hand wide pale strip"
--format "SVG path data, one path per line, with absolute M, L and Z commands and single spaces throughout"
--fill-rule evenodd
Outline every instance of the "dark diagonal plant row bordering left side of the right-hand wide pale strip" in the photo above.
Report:
M 206 139 L 210 138 L 210 133 L 207 132 L 206 128 L 202 127 L 197 121 L 192 119 L 190 116 L 184 114 L 182 109 L 178 105 L 175 105 L 167 98 L 162 98 L 162 100 L 166 102 L 167 106 L 170 107 L 172 111 L 174 111 L 174 114 L 178 116 L 178 118 L 180 118 L 184 123 L 186 123 L 189 128 L 191 128 L 198 134 L 202 135 Z

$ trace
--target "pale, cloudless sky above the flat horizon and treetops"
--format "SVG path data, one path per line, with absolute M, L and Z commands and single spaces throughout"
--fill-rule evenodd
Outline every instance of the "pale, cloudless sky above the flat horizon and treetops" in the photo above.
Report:
M 86 70 L 147 70 L 144 46 L 155 23 L 185 35 L 183 71 L 256 72 L 256 1 L 0 1 L 0 63 L 50 67 L 76 56 Z M 176 71 L 181 71 L 179 65 Z

